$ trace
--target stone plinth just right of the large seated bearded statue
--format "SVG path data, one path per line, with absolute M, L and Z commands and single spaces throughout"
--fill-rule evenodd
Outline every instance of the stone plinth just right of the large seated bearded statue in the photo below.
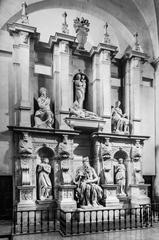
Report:
M 117 184 L 103 184 L 104 205 L 106 209 L 120 208 L 119 199 L 117 198 Z

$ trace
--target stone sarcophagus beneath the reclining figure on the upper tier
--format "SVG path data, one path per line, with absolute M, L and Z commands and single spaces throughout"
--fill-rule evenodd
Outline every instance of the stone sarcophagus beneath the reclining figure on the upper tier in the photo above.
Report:
M 105 120 L 97 120 L 97 119 L 84 119 L 84 118 L 65 118 L 65 122 L 73 129 L 93 129 L 98 132 L 102 131 L 104 125 L 106 123 Z

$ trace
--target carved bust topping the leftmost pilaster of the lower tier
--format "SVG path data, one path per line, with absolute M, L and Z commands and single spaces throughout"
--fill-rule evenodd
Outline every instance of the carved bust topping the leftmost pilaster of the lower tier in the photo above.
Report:
M 27 132 L 23 132 L 23 138 L 19 141 L 19 153 L 32 154 L 33 145 Z

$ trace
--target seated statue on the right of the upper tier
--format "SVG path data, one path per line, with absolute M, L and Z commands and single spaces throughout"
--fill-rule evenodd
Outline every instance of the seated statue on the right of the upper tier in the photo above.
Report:
M 115 133 L 129 133 L 129 120 L 126 113 L 122 113 L 120 101 L 117 101 L 115 107 L 112 107 L 112 128 Z

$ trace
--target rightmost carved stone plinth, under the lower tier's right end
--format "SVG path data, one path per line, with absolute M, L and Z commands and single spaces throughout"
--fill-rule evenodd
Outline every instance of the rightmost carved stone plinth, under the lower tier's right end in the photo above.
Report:
M 150 184 L 131 184 L 129 186 L 131 207 L 150 204 L 150 198 L 147 196 L 149 186 Z

